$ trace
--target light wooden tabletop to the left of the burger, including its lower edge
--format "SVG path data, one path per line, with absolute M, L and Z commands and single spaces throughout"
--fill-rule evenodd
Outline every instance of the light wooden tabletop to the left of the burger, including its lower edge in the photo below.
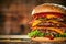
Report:
M 0 35 L 0 42 L 30 42 L 28 35 Z

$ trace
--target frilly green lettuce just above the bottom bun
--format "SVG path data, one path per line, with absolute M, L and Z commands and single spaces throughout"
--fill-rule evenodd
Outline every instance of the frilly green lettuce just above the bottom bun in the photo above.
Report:
M 35 30 L 35 31 L 32 31 L 32 32 L 28 33 L 28 35 L 30 37 L 36 37 L 36 36 L 37 37 L 44 37 L 45 35 L 52 35 L 52 34 L 51 33 L 42 33 L 42 32 Z M 64 33 L 64 34 L 56 34 L 54 37 L 66 37 L 66 33 Z

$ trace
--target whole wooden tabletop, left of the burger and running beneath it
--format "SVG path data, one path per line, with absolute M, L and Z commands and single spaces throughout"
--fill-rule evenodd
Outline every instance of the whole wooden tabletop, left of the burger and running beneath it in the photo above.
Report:
M 0 35 L 0 43 L 9 43 L 9 44 L 66 44 L 66 42 L 33 42 L 28 35 Z

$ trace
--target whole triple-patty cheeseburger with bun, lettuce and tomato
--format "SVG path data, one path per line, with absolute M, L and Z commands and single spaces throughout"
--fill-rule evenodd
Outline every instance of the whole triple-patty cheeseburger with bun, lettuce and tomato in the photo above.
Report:
M 66 41 L 66 8 L 54 3 L 44 3 L 32 11 L 29 36 L 37 42 Z

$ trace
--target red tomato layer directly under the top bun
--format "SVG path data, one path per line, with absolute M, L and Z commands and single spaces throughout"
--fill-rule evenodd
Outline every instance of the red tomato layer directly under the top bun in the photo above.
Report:
M 40 16 L 46 16 L 46 15 L 50 15 L 50 14 L 53 14 L 53 15 L 56 15 L 56 16 L 58 16 L 58 18 L 62 18 L 62 15 L 65 15 L 65 14 L 63 14 L 63 13 L 57 13 L 57 12 L 41 12 L 41 13 L 35 13 L 35 14 L 33 14 L 33 18 L 35 18 L 35 16 L 37 16 L 37 18 L 40 18 Z

